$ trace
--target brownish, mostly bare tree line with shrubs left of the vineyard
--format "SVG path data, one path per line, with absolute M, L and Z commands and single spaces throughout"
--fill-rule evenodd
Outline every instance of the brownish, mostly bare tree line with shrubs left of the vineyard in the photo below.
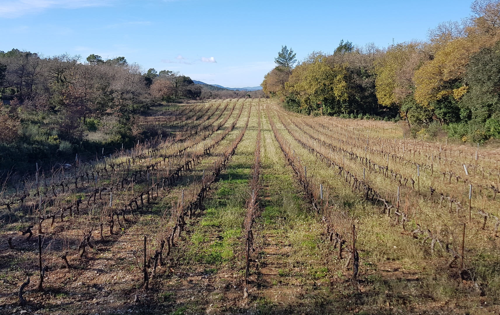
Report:
M 217 96 L 179 72 L 143 73 L 122 56 L 0 51 L 0 169 L 131 144 L 157 131 L 134 123 L 149 106 Z

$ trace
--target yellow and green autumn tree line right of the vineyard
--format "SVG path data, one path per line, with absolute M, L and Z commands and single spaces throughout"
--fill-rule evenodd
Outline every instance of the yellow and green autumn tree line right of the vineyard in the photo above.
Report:
M 413 135 L 442 128 L 464 142 L 500 138 L 500 1 L 475 0 L 471 11 L 425 41 L 379 48 L 342 40 L 298 63 L 282 46 L 264 92 L 305 114 L 404 119 Z

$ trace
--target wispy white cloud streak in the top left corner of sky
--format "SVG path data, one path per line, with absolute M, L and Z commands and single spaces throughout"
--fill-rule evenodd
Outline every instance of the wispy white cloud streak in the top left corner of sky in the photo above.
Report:
M 37 13 L 49 8 L 81 8 L 109 5 L 115 0 L 2 0 L 1 17 L 18 17 Z

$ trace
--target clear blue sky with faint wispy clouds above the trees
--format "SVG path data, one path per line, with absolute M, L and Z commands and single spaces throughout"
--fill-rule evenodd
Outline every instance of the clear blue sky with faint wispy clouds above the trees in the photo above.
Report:
M 425 39 L 469 15 L 471 0 L 0 0 L 0 50 L 84 60 L 124 56 L 146 71 L 174 70 L 210 84 L 256 86 L 281 45 L 298 59 L 343 38 L 387 46 Z

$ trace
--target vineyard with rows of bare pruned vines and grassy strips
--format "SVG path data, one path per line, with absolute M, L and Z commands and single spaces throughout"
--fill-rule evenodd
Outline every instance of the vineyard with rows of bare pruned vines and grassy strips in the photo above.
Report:
M 0 313 L 500 311 L 495 150 L 263 98 L 138 124 L 158 135 L 2 178 Z

